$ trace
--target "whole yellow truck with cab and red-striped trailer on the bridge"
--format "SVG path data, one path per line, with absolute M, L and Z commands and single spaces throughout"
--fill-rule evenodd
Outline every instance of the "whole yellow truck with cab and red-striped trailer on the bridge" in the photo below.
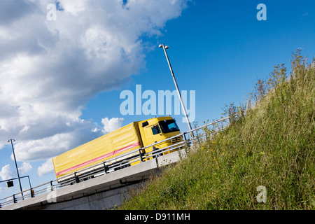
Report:
M 139 158 L 139 151 L 137 151 L 137 149 L 139 150 L 140 148 L 151 146 L 156 142 L 169 139 L 179 134 L 181 134 L 181 132 L 176 121 L 169 116 L 130 123 L 125 127 L 120 127 L 116 131 L 105 134 L 102 137 L 52 158 L 57 180 L 60 182 L 69 179 L 69 174 L 75 174 L 76 176 L 76 172 L 82 169 L 84 169 L 84 172 L 80 171 L 78 175 L 91 172 L 97 169 L 94 165 L 99 165 L 104 161 L 111 161 L 108 162 L 107 165 L 113 165 L 116 162 L 116 160 L 113 159 L 118 157 L 120 161 L 123 159 L 130 161 L 132 157 L 135 158 L 136 156 Z M 183 141 L 181 136 L 174 137 L 174 139 L 155 145 L 154 148 L 148 147 L 145 151 L 141 151 L 141 153 L 150 153 L 159 148 L 172 146 L 180 141 Z M 135 153 L 132 153 L 133 151 Z M 169 152 L 170 151 L 166 153 Z M 125 155 L 125 157 L 123 155 Z M 147 156 L 145 160 L 151 158 L 153 157 Z M 139 162 L 139 160 L 132 162 L 131 165 L 135 165 Z M 92 168 L 85 169 L 87 167 Z

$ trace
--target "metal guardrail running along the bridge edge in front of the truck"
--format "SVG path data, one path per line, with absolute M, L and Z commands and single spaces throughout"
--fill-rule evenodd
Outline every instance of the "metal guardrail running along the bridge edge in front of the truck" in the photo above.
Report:
M 236 114 L 235 116 L 238 115 Z M 15 204 L 22 200 L 36 197 L 37 195 L 41 195 L 43 193 L 49 193 L 51 191 L 57 190 L 57 188 L 70 186 L 85 181 L 87 179 L 96 178 L 97 176 L 102 176 L 104 174 L 115 172 L 116 170 L 123 169 L 125 167 L 130 167 L 132 163 L 135 162 L 145 162 L 146 160 L 151 160 L 160 155 L 172 153 L 173 151 L 178 151 L 181 148 L 189 148 L 190 146 L 193 146 L 195 144 L 200 144 L 206 139 L 211 139 L 214 132 L 219 132 L 221 130 L 224 130 L 225 127 L 228 127 L 228 125 L 230 125 L 229 120 L 230 116 L 222 118 L 221 120 L 216 120 L 212 123 L 197 127 L 194 130 L 183 132 L 174 137 L 170 137 L 169 139 L 151 144 L 150 146 L 139 148 L 127 154 L 119 155 L 116 158 L 112 158 L 104 162 L 99 162 L 96 165 L 80 169 L 74 174 L 67 174 L 65 176 L 62 176 L 62 178 L 60 179 L 43 183 L 40 186 L 24 190 L 14 195 L 10 195 L 0 200 L 0 208 L 8 204 Z M 172 141 L 175 143 L 171 146 L 157 149 L 157 146 L 164 143 L 165 141 Z M 146 151 L 146 148 L 151 147 L 153 148 L 153 151 L 144 153 Z

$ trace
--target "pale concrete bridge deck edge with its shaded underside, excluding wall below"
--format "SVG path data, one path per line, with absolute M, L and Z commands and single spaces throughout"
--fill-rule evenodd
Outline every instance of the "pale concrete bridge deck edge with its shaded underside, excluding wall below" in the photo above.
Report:
M 72 186 L 57 188 L 50 193 L 38 195 L 16 204 L 10 204 L 0 210 L 18 210 L 18 209 L 40 209 L 49 207 L 50 204 L 56 202 L 64 202 L 74 200 L 79 197 L 87 197 L 95 193 L 101 193 L 106 190 L 121 187 L 130 183 L 130 181 L 141 181 L 147 179 L 155 173 L 158 167 L 172 164 L 180 160 L 179 153 L 184 153 L 183 150 L 167 155 L 160 156 L 153 160 L 141 162 L 138 165 L 120 169 L 116 172 L 104 174 L 94 179 L 76 183 Z

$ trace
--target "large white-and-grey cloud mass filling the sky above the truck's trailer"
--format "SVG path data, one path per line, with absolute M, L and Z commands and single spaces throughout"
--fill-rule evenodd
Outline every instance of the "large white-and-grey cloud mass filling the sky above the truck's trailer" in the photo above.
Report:
M 186 0 L 59 2 L 64 10 L 48 21 L 51 1 L 1 1 L 0 148 L 14 137 L 22 162 L 101 135 L 98 125 L 80 119 L 82 109 L 138 73 L 147 45 L 141 36 L 160 34 L 186 7 Z M 123 123 L 117 119 L 104 120 L 103 132 Z

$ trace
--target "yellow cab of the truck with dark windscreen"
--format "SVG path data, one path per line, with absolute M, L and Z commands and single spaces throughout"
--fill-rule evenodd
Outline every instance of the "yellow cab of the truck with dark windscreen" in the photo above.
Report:
M 176 124 L 176 121 L 172 117 L 160 117 L 160 118 L 151 118 L 148 120 L 144 120 L 139 122 L 139 131 L 141 134 L 141 139 L 144 147 L 155 144 L 159 141 L 169 139 L 170 137 L 181 134 L 179 130 L 179 126 Z M 146 152 L 148 153 L 154 150 L 158 150 L 160 148 L 165 148 L 167 146 L 172 146 L 173 144 L 178 143 L 179 141 L 183 141 L 182 137 L 176 137 L 169 141 L 164 141 L 161 144 L 157 144 L 153 147 L 146 148 Z M 172 151 L 168 151 L 163 153 L 163 155 L 167 153 L 171 153 Z

